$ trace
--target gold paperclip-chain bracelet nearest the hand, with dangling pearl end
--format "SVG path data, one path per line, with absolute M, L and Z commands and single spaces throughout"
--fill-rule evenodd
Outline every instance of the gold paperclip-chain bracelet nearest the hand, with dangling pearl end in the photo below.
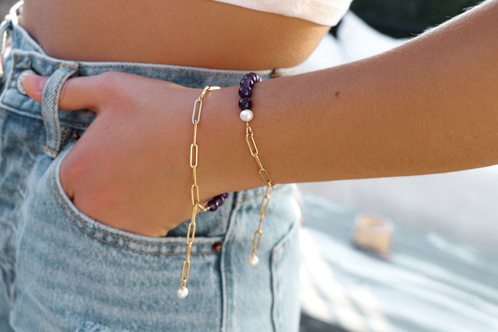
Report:
M 201 121 L 202 112 L 202 99 L 208 93 L 208 91 L 218 90 L 220 87 L 209 87 L 206 86 L 202 91 L 202 94 L 194 102 L 194 111 L 192 112 L 192 123 L 194 124 L 194 138 L 190 145 L 190 167 L 192 168 L 192 187 L 190 188 L 190 194 L 192 197 L 192 216 L 190 217 L 190 223 L 187 230 L 187 252 L 185 253 L 185 261 L 182 266 L 182 284 L 176 294 L 179 298 L 184 299 L 188 295 L 187 280 L 190 274 L 190 250 L 192 249 L 192 243 L 194 242 L 195 236 L 195 217 L 198 212 L 203 211 L 216 211 L 220 205 L 223 204 L 225 198 L 228 197 L 227 193 L 213 197 L 207 205 L 203 206 L 199 203 L 199 186 L 197 185 L 197 161 L 199 146 L 197 145 L 197 125 Z M 199 106 L 198 106 L 199 105 Z M 197 114 L 197 118 L 196 118 Z

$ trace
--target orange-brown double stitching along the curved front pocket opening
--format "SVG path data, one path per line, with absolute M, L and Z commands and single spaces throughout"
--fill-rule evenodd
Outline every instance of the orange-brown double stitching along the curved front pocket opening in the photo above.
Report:
M 55 183 L 55 178 L 52 179 L 52 185 L 53 186 L 56 186 L 56 183 Z M 90 232 L 88 232 L 86 229 L 84 229 L 83 227 L 79 226 L 75 221 L 73 221 L 71 219 L 71 217 L 66 213 L 66 211 L 64 210 L 64 208 L 62 207 L 62 205 L 59 203 L 59 200 L 57 199 L 57 197 L 55 196 L 55 194 L 53 193 L 53 190 L 56 190 L 54 188 L 52 188 L 52 196 L 53 198 L 55 199 L 55 201 L 57 202 L 57 205 L 59 206 L 59 208 L 62 210 L 62 212 L 64 213 L 64 215 L 66 215 L 66 217 L 74 224 L 76 225 L 76 227 L 78 227 L 78 229 L 80 229 L 81 231 L 87 233 L 88 235 L 96 238 L 97 240 L 99 241 L 102 241 L 102 242 L 105 242 L 105 243 L 108 243 L 108 244 L 112 244 L 112 245 L 115 245 L 115 246 L 118 246 L 120 248 L 124 248 L 124 249 L 127 249 L 127 250 L 131 250 L 131 251 L 135 251 L 135 252 L 139 252 L 139 253 L 144 253 L 144 254 L 151 254 L 151 255 L 183 255 L 185 253 L 183 252 L 179 252 L 179 253 L 176 253 L 176 252 L 147 252 L 147 251 L 141 251 L 141 250 L 137 250 L 137 249 L 132 249 L 132 248 L 129 248 L 129 247 L 126 247 L 126 246 L 123 246 L 123 245 L 120 245 L 120 244 L 117 244 L 117 243 L 113 243 L 113 242 L 109 242 L 107 240 L 104 240 L 102 238 L 99 238 L 97 237 L 95 234 L 92 234 Z M 59 192 L 57 192 L 57 194 L 59 195 L 59 198 L 62 200 L 62 202 L 66 205 L 66 207 L 71 211 L 71 214 L 76 217 L 77 219 L 79 219 L 80 221 L 82 221 L 83 223 L 87 224 L 88 225 L 88 222 L 86 222 L 85 220 L 83 220 L 80 216 L 76 215 L 72 210 L 71 208 L 67 205 L 66 202 L 64 202 L 64 200 L 62 199 L 61 197 L 61 194 Z M 112 233 L 109 233 L 99 227 L 95 227 L 95 226 L 92 226 L 92 228 L 98 230 L 98 231 L 101 231 L 105 234 L 108 234 L 108 235 L 111 235 L 111 236 L 114 236 L 114 237 L 118 237 L 118 238 L 122 238 L 124 240 L 129 240 L 129 241 L 133 241 L 133 242 L 137 242 L 137 243 L 141 243 L 141 244 L 147 244 L 147 245 L 159 245 L 159 246 L 172 246 L 172 245 L 175 245 L 175 246 L 178 246 L 178 245 L 186 245 L 186 244 L 183 244 L 183 243 L 152 243 L 152 242 L 144 242 L 144 241 L 138 241 L 138 240 L 135 240 L 135 239 L 132 239 L 132 238 L 127 238 L 127 237 L 124 237 L 124 236 L 119 236 L 119 235 L 115 235 L 115 234 L 112 234 Z M 214 243 L 214 242 L 213 242 Z M 195 243 L 196 245 L 211 245 L 212 243 Z M 199 252 L 192 252 L 193 254 L 209 254 L 209 253 L 213 253 L 213 250 L 211 251 L 199 251 Z

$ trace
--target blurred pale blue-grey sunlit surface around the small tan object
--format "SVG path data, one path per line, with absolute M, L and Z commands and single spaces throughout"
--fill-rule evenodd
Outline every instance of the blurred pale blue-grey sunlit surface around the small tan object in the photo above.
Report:
M 313 194 L 300 207 L 302 311 L 329 325 L 305 331 L 498 331 L 496 253 L 397 223 L 386 257 L 352 244 L 358 211 Z

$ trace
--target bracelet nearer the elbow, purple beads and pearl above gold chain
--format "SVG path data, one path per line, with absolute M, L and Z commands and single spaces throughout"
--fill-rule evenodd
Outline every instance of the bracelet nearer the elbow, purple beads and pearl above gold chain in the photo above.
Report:
M 263 196 L 263 200 L 261 201 L 261 206 L 259 208 L 259 226 L 254 232 L 254 238 L 252 239 L 252 254 L 248 258 L 248 262 L 252 266 L 257 265 L 257 263 L 259 262 L 256 253 L 259 249 L 259 246 L 261 245 L 261 235 L 263 233 L 263 231 L 261 230 L 261 226 L 263 224 L 263 218 L 268 212 L 268 204 L 270 202 L 270 189 L 275 187 L 275 184 L 271 181 L 270 175 L 259 160 L 257 146 L 254 142 L 254 135 L 252 133 L 251 127 L 249 126 L 249 121 L 252 120 L 252 117 L 254 116 L 254 114 L 250 110 L 250 108 L 252 107 L 250 97 L 252 96 L 252 88 L 259 81 L 261 81 L 261 78 L 256 73 L 246 74 L 241 81 L 241 88 L 239 89 L 239 96 L 241 96 L 242 98 L 239 101 L 239 108 L 242 110 L 239 116 L 241 120 L 246 122 L 246 142 L 248 143 L 250 154 L 254 157 L 257 167 L 259 168 L 259 175 L 266 184 L 266 193 Z

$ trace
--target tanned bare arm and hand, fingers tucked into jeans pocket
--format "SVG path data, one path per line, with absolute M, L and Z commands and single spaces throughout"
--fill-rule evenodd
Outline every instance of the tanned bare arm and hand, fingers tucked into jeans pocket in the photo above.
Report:
M 250 125 L 272 180 L 416 175 L 498 163 L 497 16 L 498 1 L 489 0 L 383 54 L 258 83 Z M 41 101 L 45 82 L 33 75 L 23 84 Z M 204 99 L 202 200 L 263 185 L 238 117 L 237 90 Z M 199 95 L 124 73 L 69 80 L 60 108 L 97 112 L 62 164 L 61 181 L 76 206 L 151 236 L 188 219 L 191 109 Z

